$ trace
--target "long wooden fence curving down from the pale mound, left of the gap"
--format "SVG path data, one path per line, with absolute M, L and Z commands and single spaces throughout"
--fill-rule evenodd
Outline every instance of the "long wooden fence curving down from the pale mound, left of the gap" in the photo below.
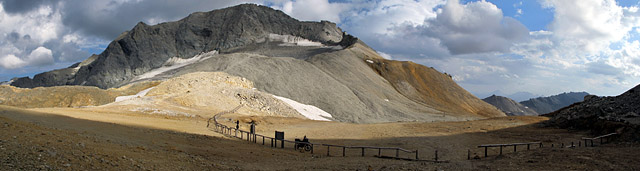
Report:
M 220 112 L 216 115 L 214 115 L 213 117 L 209 118 L 209 120 L 207 121 L 207 127 L 210 128 L 211 125 L 211 121 L 213 121 L 213 125 L 214 127 L 214 131 L 221 133 L 223 135 L 226 136 L 231 136 L 231 137 L 235 137 L 235 138 L 239 138 L 241 140 L 246 140 L 249 142 L 253 142 L 256 144 L 262 144 L 262 145 L 267 145 L 269 144 L 271 148 L 285 148 L 285 143 L 288 143 L 287 146 L 289 145 L 293 145 L 293 149 L 296 149 L 296 146 L 298 144 L 307 144 L 311 146 L 311 154 L 314 154 L 314 150 L 317 150 L 316 147 L 326 147 L 327 148 L 327 156 L 331 156 L 331 149 L 334 148 L 337 150 L 342 150 L 342 156 L 346 157 L 347 150 L 350 149 L 359 149 L 360 150 L 360 156 L 365 157 L 366 155 L 366 150 L 367 149 L 373 149 L 373 150 L 377 150 L 377 155 L 374 155 L 375 157 L 381 157 L 381 158 L 395 158 L 395 159 L 404 159 L 404 160 L 420 160 L 420 155 L 418 153 L 418 150 L 407 150 L 407 149 L 403 149 L 403 148 L 399 148 L 399 147 L 377 147 L 377 146 L 345 146 L 345 145 L 335 145 L 335 144 L 323 144 L 323 143 L 309 143 L 309 142 L 296 142 L 296 141 L 291 141 L 291 140 L 280 140 L 280 139 L 276 139 L 274 137 L 269 137 L 269 136 L 265 136 L 265 135 L 260 135 L 260 134 L 251 134 L 251 132 L 248 131 L 244 131 L 244 130 L 240 130 L 240 129 L 236 129 L 233 127 L 229 127 L 226 126 L 224 124 L 221 124 L 218 122 L 218 117 L 220 117 L 221 115 L 224 114 L 228 114 L 228 113 L 233 113 L 235 111 L 237 111 L 238 109 L 240 109 L 240 107 L 242 107 L 242 105 L 229 110 L 229 111 L 223 111 Z M 280 144 L 278 144 L 280 143 Z M 278 145 L 280 145 L 278 147 Z M 382 152 L 383 151 L 392 151 L 395 152 L 395 156 L 383 156 Z M 400 156 L 400 152 L 402 152 L 403 154 L 405 154 L 404 156 L 407 155 L 411 155 L 411 154 L 415 154 L 415 157 L 411 156 L 411 157 L 401 157 Z M 431 161 L 431 160 L 420 160 L 420 161 Z M 438 160 L 438 151 L 435 151 L 435 157 L 434 160 L 436 162 L 445 162 L 445 161 L 439 161 Z

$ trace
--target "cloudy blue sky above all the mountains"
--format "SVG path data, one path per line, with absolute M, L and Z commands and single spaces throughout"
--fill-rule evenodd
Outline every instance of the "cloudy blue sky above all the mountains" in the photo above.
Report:
M 386 58 L 451 74 L 480 98 L 611 96 L 640 84 L 638 0 L 0 0 L 0 81 L 99 54 L 140 21 L 242 3 L 335 22 Z

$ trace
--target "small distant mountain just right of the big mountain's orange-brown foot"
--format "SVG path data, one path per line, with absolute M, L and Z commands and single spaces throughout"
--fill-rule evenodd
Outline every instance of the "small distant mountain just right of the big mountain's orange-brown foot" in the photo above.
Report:
M 497 107 L 508 116 L 537 116 L 538 113 L 516 101 L 503 96 L 489 96 L 483 101 Z

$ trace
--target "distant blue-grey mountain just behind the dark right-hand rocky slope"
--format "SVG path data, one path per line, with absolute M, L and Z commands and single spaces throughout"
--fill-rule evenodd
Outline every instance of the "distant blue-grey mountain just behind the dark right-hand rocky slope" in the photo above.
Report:
M 539 114 L 545 114 L 569 106 L 573 103 L 580 102 L 584 99 L 584 96 L 587 95 L 589 95 L 587 92 L 570 92 L 549 97 L 538 97 L 522 101 L 520 103 L 533 109 Z

